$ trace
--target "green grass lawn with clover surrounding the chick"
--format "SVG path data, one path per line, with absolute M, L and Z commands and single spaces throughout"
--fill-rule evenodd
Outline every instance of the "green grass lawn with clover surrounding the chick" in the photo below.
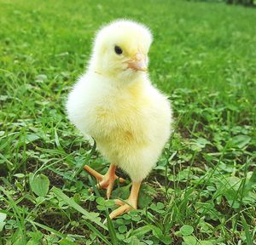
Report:
M 255 9 L 173 0 L 0 9 L 0 244 L 255 244 Z M 64 103 L 95 31 L 122 17 L 154 32 L 149 73 L 176 123 L 139 209 L 111 222 L 113 202 L 91 194 L 95 180 L 81 172 L 108 162 Z M 130 186 L 115 185 L 113 197 Z

